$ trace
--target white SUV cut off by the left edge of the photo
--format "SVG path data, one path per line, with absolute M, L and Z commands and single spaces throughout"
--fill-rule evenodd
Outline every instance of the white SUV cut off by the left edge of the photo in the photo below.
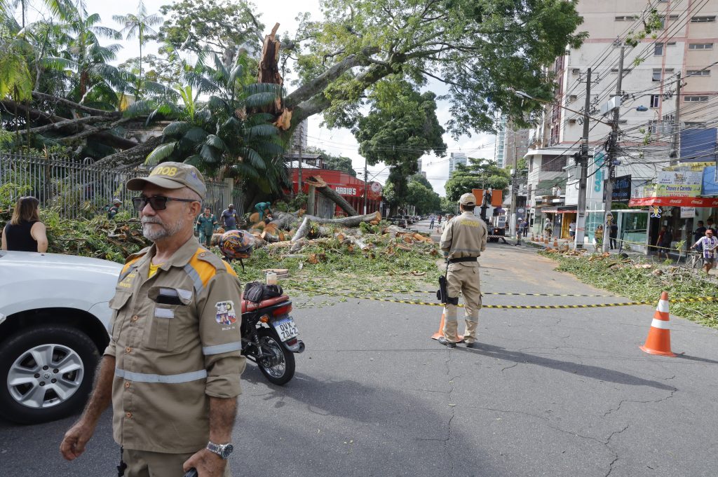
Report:
M 0 251 L 0 416 L 23 424 L 78 412 L 109 341 L 122 266 Z

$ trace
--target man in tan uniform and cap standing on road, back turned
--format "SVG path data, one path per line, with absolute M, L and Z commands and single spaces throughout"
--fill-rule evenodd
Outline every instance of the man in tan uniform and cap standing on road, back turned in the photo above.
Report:
M 459 199 L 462 214 L 457 215 L 444 227 L 441 247 L 447 264 L 447 296 L 449 303 L 444 306 L 444 336 L 439 343 L 455 348 L 457 342 L 457 305 L 459 292 L 464 294 L 466 310 L 466 331 L 464 341 L 467 348 L 476 343 L 476 326 L 481 308 L 481 286 L 477 258 L 486 250 L 488 231 L 480 217 L 474 215 L 476 199 L 467 193 Z

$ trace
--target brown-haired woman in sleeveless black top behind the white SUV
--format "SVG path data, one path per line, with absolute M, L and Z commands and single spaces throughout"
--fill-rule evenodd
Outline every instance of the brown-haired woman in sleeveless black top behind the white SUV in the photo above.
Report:
M 3 230 L 2 250 L 47 252 L 47 233 L 39 220 L 38 204 L 34 197 L 20 197 Z

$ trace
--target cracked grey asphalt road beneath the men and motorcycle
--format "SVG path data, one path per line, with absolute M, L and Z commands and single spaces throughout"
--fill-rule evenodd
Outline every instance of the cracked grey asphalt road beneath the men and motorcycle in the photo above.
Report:
M 607 294 L 523 247 L 490 244 L 481 263 L 485 292 Z M 716 330 L 671 317 L 673 351 L 684 354 L 664 358 L 638 349 L 655 307 L 485 309 L 480 348 L 449 350 L 429 339 L 439 307 L 292 295 L 317 304 L 293 313 L 307 351 L 285 387 L 251 364 L 243 375 L 234 476 L 718 473 Z M 57 450 L 73 419 L 0 422 L 0 475 L 116 475 L 110 417 L 73 463 Z

